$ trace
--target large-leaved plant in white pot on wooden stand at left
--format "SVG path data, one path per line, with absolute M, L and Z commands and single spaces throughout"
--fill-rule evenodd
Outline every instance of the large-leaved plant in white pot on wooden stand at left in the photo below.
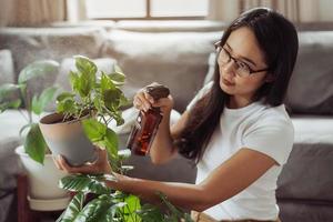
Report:
M 38 93 L 31 85 L 32 81 L 54 74 L 58 69 L 59 63 L 56 61 L 36 61 L 21 70 L 18 84 L 7 83 L 0 87 L 0 111 L 17 109 L 27 120 L 27 124 L 18 129 L 19 134 L 23 137 L 23 145 L 18 147 L 16 152 L 27 171 L 30 195 L 28 198 L 31 199 L 32 209 L 40 206 L 36 205 L 39 204 L 36 200 L 59 200 L 53 202 L 53 209 L 63 209 L 69 201 L 68 193 L 57 185 L 65 173 L 56 168 L 37 121 L 38 115 L 44 112 L 54 98 L 57 88 L 47 88 Z

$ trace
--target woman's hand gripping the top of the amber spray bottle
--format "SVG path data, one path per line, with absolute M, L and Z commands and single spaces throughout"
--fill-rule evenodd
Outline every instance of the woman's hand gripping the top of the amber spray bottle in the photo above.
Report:
M 160 108 L 162 114 L 169 114 L 173 108 L 173 98 L 169 94 L 168 98 L 161 98 L 155 101 L 145 90 L 145 88 L 139 90 L 134 95 L 133 105 L 141 111 L 148 111 L 150 108 Z

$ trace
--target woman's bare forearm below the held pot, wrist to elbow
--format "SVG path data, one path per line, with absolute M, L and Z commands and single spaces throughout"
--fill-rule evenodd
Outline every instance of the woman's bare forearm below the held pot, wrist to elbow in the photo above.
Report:
M 158 194 L 161 192 L 168 196 L 168 200 L 172 204 L 183 209 L 203 211 L 211 205 L 206 192 L 204 192 L 201 185 L 150 181 L 120 174 L 115 175 L 118 181 L 108 181 L 109 186 L 132 193 L 152 203 L 161 203 L 161 198 Z

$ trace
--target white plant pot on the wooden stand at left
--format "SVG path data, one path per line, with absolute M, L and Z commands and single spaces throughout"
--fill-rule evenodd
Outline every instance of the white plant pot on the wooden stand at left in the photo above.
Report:
M 62 210 L 67 208 L 70 195 L 58 186 L 58 182 L 67 173 L 60 171 L 52 159 L 47 154 L 44 164 L 40 164 L 29 158 L 22 145 L 16 149 L 29 181 L 29 203 L 32 210 Z

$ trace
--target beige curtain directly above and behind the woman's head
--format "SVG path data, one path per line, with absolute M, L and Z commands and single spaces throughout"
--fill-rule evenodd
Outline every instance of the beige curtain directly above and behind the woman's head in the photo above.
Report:
M 254 7 L 271 8 L 297 23 L 319 21 L 317 0 L 210 0 L 208 19 L 232 21 Z

